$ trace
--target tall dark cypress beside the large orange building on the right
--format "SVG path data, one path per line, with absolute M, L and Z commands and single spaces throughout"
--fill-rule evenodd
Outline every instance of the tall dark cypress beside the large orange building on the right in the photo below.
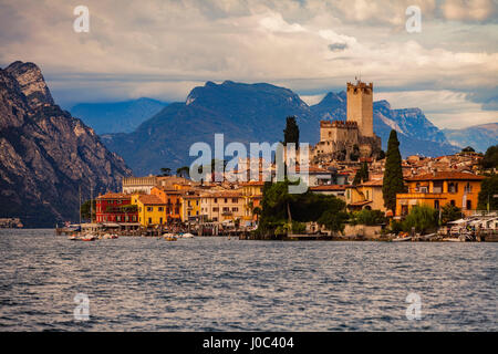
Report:
M 384 181 L 382 185 L 382 196 L 384 206 L 395 212 L 396 194 L 404 192 L 405 185 L 403 181 L 402 157 L 400 154 L 400 142 L 397 140 L 396 131 L 391 131 L 387 142 L 387 154 L 385 160 Z

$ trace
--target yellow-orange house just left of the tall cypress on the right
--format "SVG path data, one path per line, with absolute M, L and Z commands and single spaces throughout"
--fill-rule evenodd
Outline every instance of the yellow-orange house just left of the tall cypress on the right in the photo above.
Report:
M 382 179 L 345 186 L 345 201 L 347 209 L 352 211 L 362 209 L 386 211 L 382 196 Z

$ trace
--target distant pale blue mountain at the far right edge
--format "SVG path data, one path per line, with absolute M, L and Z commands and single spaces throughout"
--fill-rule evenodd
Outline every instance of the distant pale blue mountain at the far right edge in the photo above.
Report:
M 443 129 L 448 140 L 459 147 L 471 146 L 476 152 L 498 143 L 498 123 L 473 125 L 463 129 Z

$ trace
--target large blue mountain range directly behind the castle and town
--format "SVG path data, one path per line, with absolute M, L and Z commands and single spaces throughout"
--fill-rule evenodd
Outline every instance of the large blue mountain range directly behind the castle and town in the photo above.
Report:
M 392 128 L 398 132 L 404 156 L 439 156 L 459 148 L 449 144 L 419 108 L 392 110 L 388 102 L 374 102 L 374 132 L 386 148 Z M 106 146 L 123 156 L 135 175 L 158 173 L 188 165 L 191 144 L 212 146 L 214 134 L 229 142 L 274 143 L 282 139 L 286 117 L 294 115 L 300 140 L 315 144 L 321 119 L 346 118 L 345 92 L 329 93 L 309 106 L 291 90 L 268 83 L 207 82 L 195 87 L 183 103 L 172 103 L 142 123 L 133 133 L 104 134 Z

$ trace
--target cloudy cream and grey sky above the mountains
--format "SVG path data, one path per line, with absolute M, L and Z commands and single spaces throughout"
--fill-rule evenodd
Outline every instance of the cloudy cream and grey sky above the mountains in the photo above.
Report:
M 498 122 L 498 0 L 0 0 L 0 67 L 37 63 L 66 108 L 226 80 L 313 104 L 361 77 L 440 128 Z

